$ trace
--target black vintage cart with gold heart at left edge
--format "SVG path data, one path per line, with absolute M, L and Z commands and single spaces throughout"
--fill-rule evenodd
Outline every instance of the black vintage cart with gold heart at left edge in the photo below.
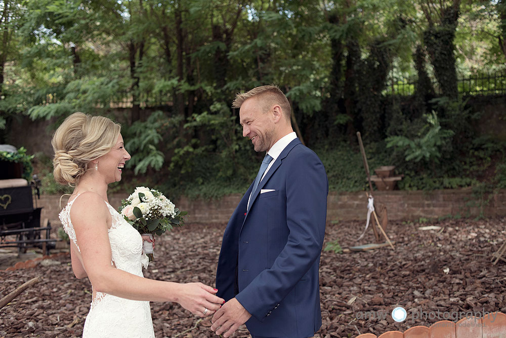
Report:
M 38 183 L 36 175 L 29 183 L 20 178 L 15 163 L 0 161 L 0 248 L 17 247 L 19 252 L 26 252 L 28 247 L 39 247 L 49 254 L 55 246 L 56 240 L 49 236 L 49 220 L 40 223 L 42 208 L 35 199 L 40 198 Z

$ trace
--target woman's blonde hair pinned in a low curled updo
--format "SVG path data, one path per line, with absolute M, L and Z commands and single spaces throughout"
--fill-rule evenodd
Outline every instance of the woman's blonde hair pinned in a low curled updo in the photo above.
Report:
M 76 183 L 91 161 L 111 150 L 120 131 L 119 124 L 102 116 L 74 112 L 66 118 L 51 140 L 55 180 L 63 185 Z

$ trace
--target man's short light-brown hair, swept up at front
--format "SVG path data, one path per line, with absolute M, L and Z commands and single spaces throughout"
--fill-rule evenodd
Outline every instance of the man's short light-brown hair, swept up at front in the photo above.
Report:
M 237 93 L 235 95 L 234 102 L 232 102 L 232 108 L 240 108 L 244 101 L 251 97 L 256 97 L 259 99 L 259 103 L 261 104 L 261 109 L 263 112 L 267 112 L 268 109 L 272 107 L 272 105 L 279 104 L 283 110 L 283 115 L 285 118 L 290 120 L 290 102 L 288 102 L 285 94 L 281 91 L 281 89 L 279 89 L 278 86 L 260 86 L 253 88 L 246 93 Z

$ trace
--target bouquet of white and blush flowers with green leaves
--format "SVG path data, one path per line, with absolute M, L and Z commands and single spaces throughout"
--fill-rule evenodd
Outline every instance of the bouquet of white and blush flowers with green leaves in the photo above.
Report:
M 159 191 L 144 186 L 137 187 L 126 200 L 121 200 L 119 212 L 141 235 L 149 235 L 151 239 L 153 235 L 160 236 L 174 226 L 182 227 L 188 214 L 176 208 Z M 152 261 L 152 244 L 144 242 L 143 250 Z

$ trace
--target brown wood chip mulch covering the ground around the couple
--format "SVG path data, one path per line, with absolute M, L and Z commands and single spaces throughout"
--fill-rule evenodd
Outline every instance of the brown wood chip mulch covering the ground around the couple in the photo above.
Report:
M 440 226 L 440 230 L 418 230 Z M 373 243 L 372 231 L 357 242 L 364 222 L 327 224 L 325 244 L 342 247 Z M 155 261 L 145 277 L 200 281 L 214 285 L 225 224 L 189 224 L 157 241 Z M 355 337 L 359 333 L 404 331 L 430 326 L 448 313 L 456 321 L 470 311 L 506 313 L 506 264 L 492 265 L 492 253 L 506 240 L 506 217 L 391 222 L 387 233 L 395 251 L 383 247 L 336 254 L 322 251 L 320 292 L 323 325 L 315 337 Z M 29 279 L 43 281 L 0 309 L 0 337 L 78 337 L 89 311 L 91 285 L 77 280 L 70 257 L 60 264 L 0 271 L 0 297 Z M 396 306 L 407 310 L 395 322 Z M 156 337 L 212 337 L 210 321 L 194 317 L 178 304 L 151 303 Z M 439 314 L 439 317 L 436 317 Z M 506 334 L 506 332 L 505 332 Z M 248 337 L 241 327 L 235 337 Z

